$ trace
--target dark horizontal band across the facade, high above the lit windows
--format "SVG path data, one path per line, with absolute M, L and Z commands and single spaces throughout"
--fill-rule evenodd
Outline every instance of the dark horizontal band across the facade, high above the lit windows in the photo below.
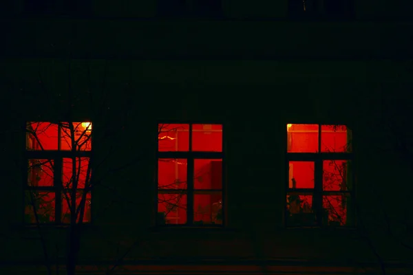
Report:
M 8 58 L 372 60 L 412 58 L 411 23 L 380 21 L 8 21 Z

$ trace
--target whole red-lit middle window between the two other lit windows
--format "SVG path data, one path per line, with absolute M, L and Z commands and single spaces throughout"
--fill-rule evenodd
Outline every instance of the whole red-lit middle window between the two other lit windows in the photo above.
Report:
M 159 225 L 222 225 L 222 124 L 158 124 Z

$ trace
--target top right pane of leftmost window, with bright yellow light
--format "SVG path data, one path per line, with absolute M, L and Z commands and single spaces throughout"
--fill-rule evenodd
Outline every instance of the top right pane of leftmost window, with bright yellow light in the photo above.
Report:
M 92 122 L 74 122 L 74 144 L 76 151 L 92 149 Z M 61 124 L 61 150 L 72 150 L 72 135 L 69 123 Z

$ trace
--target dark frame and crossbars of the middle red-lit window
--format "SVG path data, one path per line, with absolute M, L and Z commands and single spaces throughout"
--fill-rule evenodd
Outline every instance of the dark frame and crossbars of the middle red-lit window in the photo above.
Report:
M 189 149 L 188 151 L 159 151 L 159 125 L 160 124 L 188 124 L 189 126 Z M 209 152 L 209 151 L 192 151 L 192 126 L 193 124 L 215 124 L 222 126 L 222 151 L 221 152 Z M 223 122 L 211 122 L 211 121 L 201 121 L 201 122 L 187 122 L 187 121 L 165 121 L 162 120 L 156 124 L 157 126 L 157 133 L 156 136 L 156 173 L 155 173 L 155 225 L 156 227 L 166 227 L 166 228 L 224 228 L 226 226 L 226 158 L 225 158 L 225 150 L 226 150 L 226 142 L 225 135 L 224 135 L 224 123 Z M 160 194 L 158 188 L 158 159 L 187 159 L 187 189 L 185 195 L 187 195 L 187 223 L 184 224 L 171 224 L 165 223 L 161 224 L 158 222 L 157 215 L 158 215 L 158 194 Z M 222 160 L 222 187 L 221 189 L 194 189 L 193 186 L 193 179 L 194 179 L 194 159 L 221 159 Z M 180 191 L 182 189 L 173 189 L 175 192 L 176 190 Z M 170 194 L 174 191 L 169 192 Z M 194 211 L 193 211 L 193 200 L 195 192 L 222 192 L 222 223 L 221 224 L 196 224 L 193 221 L 194 218 Z M 167 191 L 162 191 L 162 194 L 168 194 Z

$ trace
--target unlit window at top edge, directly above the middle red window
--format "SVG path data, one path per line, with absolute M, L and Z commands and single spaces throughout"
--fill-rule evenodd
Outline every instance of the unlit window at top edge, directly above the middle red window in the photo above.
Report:
M 158 12 L 166 17 L 220 17 L 222 0 L 158 0 Z

